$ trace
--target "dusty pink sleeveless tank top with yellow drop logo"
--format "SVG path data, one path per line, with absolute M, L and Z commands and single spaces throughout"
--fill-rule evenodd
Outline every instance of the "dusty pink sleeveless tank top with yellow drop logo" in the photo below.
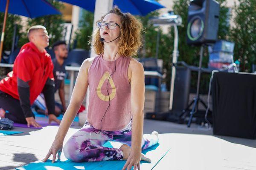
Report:
M 115 70 L 114 61 L 105 61 L 102 55 L 97 56 L 90 66 L 87 121 L 98 130 L 101 120 L 102 130 L 107 131 L 122 130 L 131 122 L 131 86 L 128 80 L 130 60 L 130 57 L 125 56 L 117 58 L 116 71 L 112 75 L 111 73 Z M 108 83 L 110 107 L 108 108 L 109 98 L 106 86 L 110 75 Z

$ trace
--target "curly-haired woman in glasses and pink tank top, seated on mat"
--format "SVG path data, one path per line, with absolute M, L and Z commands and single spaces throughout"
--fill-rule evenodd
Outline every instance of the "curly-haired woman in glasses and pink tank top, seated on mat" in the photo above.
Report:
M 123 169 L 140 169 L 149 161 L 141 150 L 158 142 L 158 133 L 143 135 L 144 69 L 134 58 L 142 46 L 142 24 L 130 13 L 114 7 L 97 23 L 93 47 L 99 56 L 86 59 L 76 80 L 70 104 L 55 141 L 44 161 L 60 158 L 64 137 L 89 86 L 87 121 L 65 144 L 71 161 L 127 160 Z M 118 141 L 119 148 L 103 146 Z

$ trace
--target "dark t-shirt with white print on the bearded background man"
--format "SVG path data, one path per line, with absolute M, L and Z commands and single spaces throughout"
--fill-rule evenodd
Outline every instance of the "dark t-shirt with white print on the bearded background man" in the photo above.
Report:
M 55 92 L 60 88 L 61 81 L 64 81 L 64 78 L 66 76 L 66 70 L 64 64 L 61 66 L 57 59 L 54 58 L 52 60 L 53 63 L 53 75 L 54 75 L 54 81 L 55 81 Z

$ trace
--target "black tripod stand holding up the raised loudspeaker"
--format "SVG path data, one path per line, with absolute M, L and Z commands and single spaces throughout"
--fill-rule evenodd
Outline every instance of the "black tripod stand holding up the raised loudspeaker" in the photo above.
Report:
M 199 94 L 203 55 L 204 55 L 204 44 L 202 44 L 201 48 L 200 48 L 200 59 L 199 59 L 199 67 L 198 67 L 198 81 L 197 81 L 196 96 L 194 98 L 194 101 L 192 101 L 189 104 L 189 106 L 186 108 L 186 110 L 189 109 L 189 107 L 193 104 L 192 110 L 190 112 L 189 122 L 187 124 L 187 127 L 190 127 L 190 125 L 192 123 L 193 116 L 195 115 L 196 112 L 198 112 L 199 102 L 201 102 L 204 105 L 204 107 L 207 108 L 207 105 L 201 100 L 200 94 Z M 183 113 L 184 113 L 184 111 L 183 111 Z

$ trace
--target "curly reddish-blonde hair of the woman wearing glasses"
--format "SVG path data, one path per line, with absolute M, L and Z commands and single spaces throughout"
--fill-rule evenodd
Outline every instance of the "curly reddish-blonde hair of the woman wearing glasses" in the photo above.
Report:
M 142 23 L 132 14 L 122 13 L 121 10 L 116 6 L 111 9 L 107 14 L 117 14 L 121 19 L 121 36 L 119 40 L 118 54 L 127 57 L 137 55 L 138 49 L 142 46 Z M 96 24 L 98 22 L 101 22 L 107 14 L 102 16 L 101 20 L 98 20 Z M 101 42 L 99 39 L 100 30 L 98 29 L 96 31 L 95 39 L 92 44 L 94 51 L 97 55 L 104 52 L 104 43 Z

